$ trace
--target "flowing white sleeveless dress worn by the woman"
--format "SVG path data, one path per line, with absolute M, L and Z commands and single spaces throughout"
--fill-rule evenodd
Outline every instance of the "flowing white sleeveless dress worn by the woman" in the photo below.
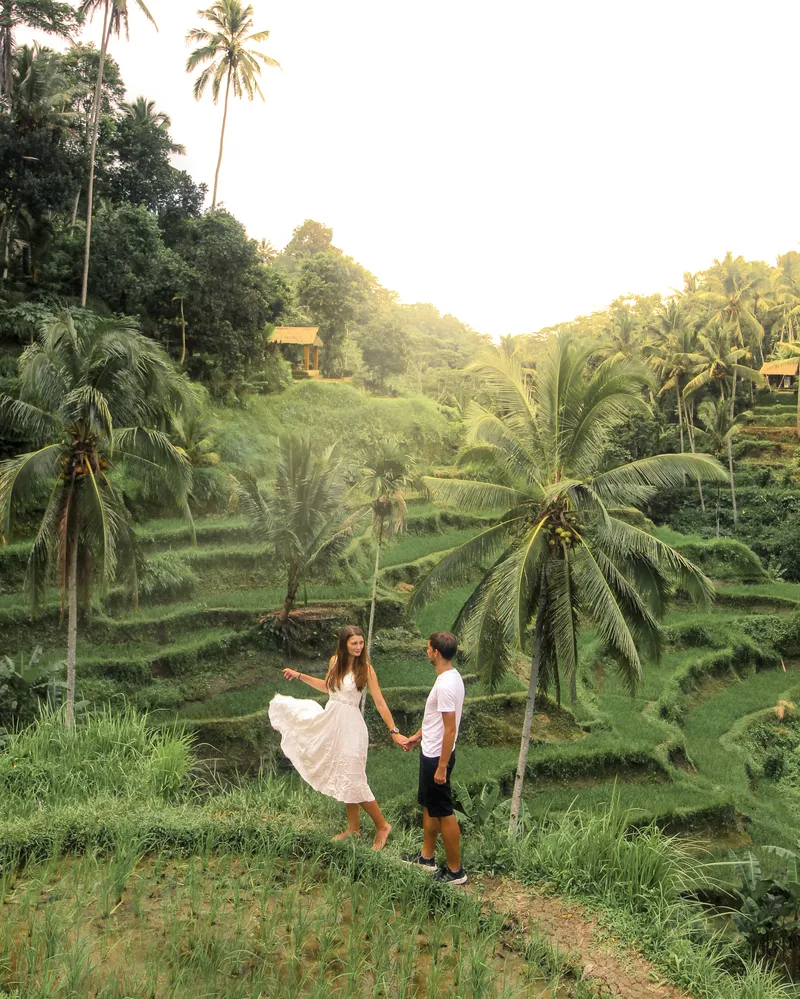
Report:
M 280 732 L 281 749 L 315 791 L 337 801 L 374 801 L 367 783 L 369 732 L 361 715 L 361 693 L 347 673 L 328 703 L 275 694 L 269 720 Z

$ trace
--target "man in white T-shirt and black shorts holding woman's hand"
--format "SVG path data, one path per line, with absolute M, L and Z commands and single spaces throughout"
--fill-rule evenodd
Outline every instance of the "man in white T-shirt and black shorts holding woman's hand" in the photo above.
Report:
M 453 666 L 458 650 L 455 636 L 437 631 L 428 639 L 428 659 L 436 670 L 436 682 L 425 704 L 422 728 L 405 740 L 406 752 L 420 746 L 419 792 L 422 805 L 422 849 L 403 859 L 451 885 L 467 883 L 461 866 L 461 830 L 453 814 L 450 775 L 456 762 L 455 745 L 464 707 L 464 681 Z M 441 835 L 447 863 L 436 869 L 436 841 Z

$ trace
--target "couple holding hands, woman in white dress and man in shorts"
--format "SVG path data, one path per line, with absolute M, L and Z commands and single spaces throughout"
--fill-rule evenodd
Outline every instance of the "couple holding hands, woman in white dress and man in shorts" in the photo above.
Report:
M 457 649 L 449 631 L 437 631 L 428 639 L 427 655 L 436 670 L 436 681 L 425 704 L 422 727 L 413 735 L 401 735 L 395 725 L 367 658 L 364 633 L 354 625 L 342 629 L 324 680 L 288 667 L 283 671 L 287 680 L 301 680 L 327 694 L 325 707 L 316 701 L 276 694 L 270 701 L 269 720 L 280 733 L 281 749 L 303 780 L 346 805 L 347 829 L 334 839 L 359 835 L 363 808 L 375 823 L 372 848 L 382 850 L 392 827 L 367 783 L 369 732 L 360 702 L 362 691 L 368 689 L 392 740 L 407 753 L 420 747 L 417 800 L 422 806 L 422 849 L 403 859 L 430 871 L 440 881 L 463 885 L 467 875 L 461 865 L 461 831 L 450 790 L 464 706 L 464 681 L 452 662 Z M 441 869 L 436 864 L 440 835 L 446 858 Z

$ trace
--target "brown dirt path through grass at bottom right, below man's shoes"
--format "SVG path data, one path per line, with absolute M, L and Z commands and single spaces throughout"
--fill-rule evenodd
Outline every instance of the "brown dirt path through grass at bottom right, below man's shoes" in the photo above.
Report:
M 473 882 L 473 890 L 521 931 L 537 927 L 560 951 L 575 955 L 597 996 L 691 999 L 665 982 L 649 961 L 603 930 L 583 906 L 539 895 L 510 878 L 481 878 Z

